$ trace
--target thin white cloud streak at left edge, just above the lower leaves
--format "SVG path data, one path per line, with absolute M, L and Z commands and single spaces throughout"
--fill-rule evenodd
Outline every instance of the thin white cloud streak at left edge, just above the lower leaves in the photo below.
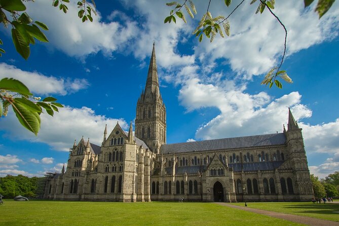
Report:
M 13 65 L 0 63 L 0 79 L 14 78 L 24 83 L 33 94 L 60 94 L 77 92 L 86 89 L 89 83 L 86 79 L 63 79 L 45 76 L 39 72 L 23 71 Z

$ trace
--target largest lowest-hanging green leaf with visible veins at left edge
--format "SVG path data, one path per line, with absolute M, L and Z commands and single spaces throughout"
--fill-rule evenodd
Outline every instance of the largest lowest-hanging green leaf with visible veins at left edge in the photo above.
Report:
M 28 110 L 20 102 L 12 102 L 11 104 L 21 125 L 37 135 L 37 132 L 40 130 L 41 123 L 39 114 Z

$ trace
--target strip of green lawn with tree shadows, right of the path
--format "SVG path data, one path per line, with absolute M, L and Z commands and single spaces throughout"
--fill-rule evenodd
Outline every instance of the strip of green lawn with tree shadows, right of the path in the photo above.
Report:
M 244 203 L 232 203 L 237 206 L 243 206 Z M 313 204 L 311 202 L 293 202 L 293 203 L 247 203 L 247 207 L 255 209 L 269 210 L 279 213 L 289 213 L 294 215 L 310 216 L 320 219 L 339 221 L 339 204 Z

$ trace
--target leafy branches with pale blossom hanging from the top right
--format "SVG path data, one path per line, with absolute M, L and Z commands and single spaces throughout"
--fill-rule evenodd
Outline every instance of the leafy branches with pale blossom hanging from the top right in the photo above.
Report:
M 321 18 L 332 6 L 335 0 L 318 0 L 318 4 L 315 8 L 315 11 L 319 14 L 319 18 Z M 199 42 L 202 42 L 203 37 L 206 36 L 210 42 L 213 42 L 214 37 L 217 33 L 221 37 L 224 37 L 224 33 L 227 36 L 230 36 L 230 16 L 245 2 L 245 0 L 241 1 L 228 16 L 219 15 L 216 17 L 212 17 L 211 12 L 209 11 L 209 6 L 211 4 L 211 0 L 208 2 L 208 7 L 206 10 L 206 13 L 203 14 L 198 26 L 193 31 L 193 34 L 198 37 Z M 285 31 L 285 41 L 284 41 L 284 51 L 283 55 L 281 57 L 281 63 L 279 66 L 273 67 L 265 76 L 265 79 L 261 82 L 261 85 L 269 85 L 269 88 L 272 87 L 273 84 L 275 84 L 278 88 L 282 89 L 282 84 L 278 79 L 282 79 L 287 83 L 292 83 L 292 80 L 289 78 L 285 70 L 280 70 L 280 67 L 283 64 L 285 53 L 286 53 L 286 40 L 287 40 L 287 29 L 285 25 L 280 21 L 280 19 L 273 13 L 272 10 L 274 10 L 275 7 L 275 0 L 252 0 L 250 2 L 250 5 L 258 2 L 258 6 L 256 8 L 255 14 L 260 13 L 262 14 L 263 11 L 267 8 L 270 13 L 277 19 L 277 21 L 280 23 L 280 25 L 284 28 Z M 304 0 L 305 8 L 309 7 L 314 0 Z M 192 11 L 197 14 L 196 7 L 193 3 L 193 1 L 189 0 L 190 9 L 189 6 L 187 6 L 187 0 L 183 1 L 183 3 L 178 2 L 171 2 L 167 3 L 166 5 L 169 7 L 173 7 L 173 9 L 170 11 L 170 15 L 165 18 L 164 23 L 171 23 L 173 21 L 176 23 L 176 17 L 179 19 L 182 19 L 184 23 L 186 23 L 185 16 L 183 12 L 181 11 L 182 7 L 186 9 L 187 14 L 189 14 L 192 18 L 194 18 L 194 15 Z M 224 0 L 224 4 L 227 7 L 230 7 L 232 3 L 232 0 Z

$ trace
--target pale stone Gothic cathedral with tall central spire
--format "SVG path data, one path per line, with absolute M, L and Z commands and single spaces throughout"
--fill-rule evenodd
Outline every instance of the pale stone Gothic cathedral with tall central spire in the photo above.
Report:
M 287 113 L 287 112 L 286 112 Z M 166 144 L 166 107 L 153 44 L 145 89 L 132 123 L 82 138 L 67 168 L 49 177 L 45 199 L 112 202 L 310 201 L 302 129 L 289 110 L 282 133 Z

